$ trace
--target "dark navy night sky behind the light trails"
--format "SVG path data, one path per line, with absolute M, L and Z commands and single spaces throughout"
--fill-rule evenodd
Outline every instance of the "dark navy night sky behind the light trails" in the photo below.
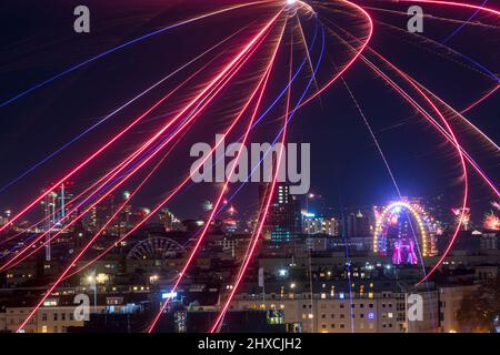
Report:
M 376 8 L 406 11 L 408 6 L 388 1 L 354 1 Z M 472 1 L 469 1 L 472 2 Z M 480 3 L 483 1 L 476 1 Z M 161 27 L 197 13 L 217 9 L 234 1 L 12 1 L 0 4 L 0 102 L 53 77 L 54 74 Z M 489 1 L 490 7 L 500 8 L 499 1 Z M 77 34 L 73 31 L 73 8 L 86 4 L 91 11 L 91 32 Z M 424 13 L 467 20 L 472 10 L 439 10 L 423 6 Z M 383 53 L 414 79 L 439 94 L 457 110 L 462 110 L 496 85 L 496 81 L 474 68 L 470 62 L 442 48 L 416 39 L 406 31 L 407 18 L 391 13 L 368 10 L 376 20 L 372 48 Z M 320 18 L 331 19 L 342 26 L 349 20 L 324 10 Z M 27 169 L 71 141 L 100 118 L 120 106 L 160 78 L 246 24 L 246 31 L 254 31 L 254 21 L 269 18 L 262 9 L 240 10 L 192 23 L 143 42 L 133 44 L 74 71 L 14 102 L 0 108 L 0 189 L 19 176 Z M 342 19 L 341 19 L 342 18 Z M 478 14 L 474 19 L 499 28 L 467 27 L 447 41 L 447 45 L 459 51 L 500 75 L 500 20 Z M 386 22 L 383 26 L 378 21 Z M 307 22 L 307 21 L 304 21 Z M 253 24 L 252 24 L 253 23 Z M 253 27 L 252 27 L 253 26 Z M 398 31 L 390 26 L 398 27 Z M 424 37 L 443 42 L 460 23 L 424 20 Z M 306 37 L 312 37 L 313 27 L 306 23 Z M 353 29 L 363 33 L 362 29 Z M 238 41 L 248 38 L 242 32 Z M 254 33 L 254 32 L 253 32 Z M 327 36 L 328 55 L 326 64 L 318 72 L 320 83 L 332 75 L 336 63 L 346 62 L 346 51 L 338 49 L 333 38 Z M 319 43 L 319 39 L 318 39 Z M 231 49 L 227 45 L 228 53 Z M 264 49 L 266 54 L 269 48 Z M 216 58 L 216 51 L 208 60 L 214 62 L 208 73 L 213 73 L 227 55 Z M 318 48 L 311 52 L 318 58 Z M 299 58 L 299 55 L 297 55 Z M 370 57 L 372 58 L 372 57 Z M 62 176 L 106 143 L 112 133 L 143 112 L 168 90 L 188 78 L 192 70 L 200 69 L 208 60 L 197 63 L 191 71 L 177 75 L 171 81 L 147 94 L 130 108 L 72 144 L 57 158 L 37 169 L 18 183 L 0 192 L 0 209 L 18 210 L 41 189 Z M 219 60 L 219 62 L 218 62 Z M 302 60 L 302 57 L 300 57 Z M 278 55 L 276 74 L 270 84 L 270 97 L 286 84 L 288 61 L 284 52 Z M 253 65 L 253 67 L 252 67 Z M 248 92 L 253 79 L 252 70 L 261 62 L 250 64 L 248 75 L 241 75 L 232 89 L 214 101 L 200 124 L 183 138 L 172 156 L 158 171 L 144 192 L 138 196 L 138 206 L 153 206 L 183 176 L 193 159 L 189 148 L 196 142 L 212 144 L 216 133 L 222 133 L 241 94 Z M 204 77 L 208 79 L 207 77 Z M 423 119 L 403 102 L 367 65 L 357 62 L 344 75 L 358 103 L 379 140 L 403 195 L 432 197 L 444 195 L 446 203 L 458 206 L 462 193 L 460 164 L 456 150 L 444 142 Z M 202 81 L 193 84 L 199 88 Z M 306 78 L 300 78 L 304 85 Z M 293 98 L 299 98 L 299 88 Z M 78 175 L 77 187 L 87 186 L 123 154 L 131 153 L 140 142 L 153 134 L 166 118 L 186 103 L 190 92 L 181 91 L 174 103 L 167 103 L 148 116 L 112 152 Z M 268 98 L 264 103 L 269 103 Z M 270 113 L 269 120 L 257 129 L 257 141 L 272 141 L 280 126 L 280 104 Z M 500 141 L 499 93 L 492 95 L 466 116 L 496 142 Z M 498 185 L 500 176 L 499 153 L 486 145 L 478 135 L 457 124 L 457 135 L 463 146 Z M 238 128 L 242 132 L 242 126 Z M 386 166 L 380 159 L 366 124 L 361 120 L 343 84 L 339 81 L 320 100 L 301 109 L 293 118 L 290 142 L 310 142 L 312 154 L 311 192 L 319 193 L 324 204 L 338 211 L 340 206 L 369 206 L 383 204 L 396 196 Z M 87 155 L 86 155 L 87 154 Z M 493 195 L 470 172 L 470 205 L 472 217 L 479 220 L 490 209 Z M 139 178 L 140 180 L 140 178 Z M 137 181 L 136 181 L 137 182 Z M 132 189 L 124 186 L 124 189 Z M 181 217 L 197 217 L 202 213 L 204 200 L 216 196 L 216 186 L 192 186 L 176 200 L 171 210 Z M 241 213 L 251 212 L 256 205 L 256 185 L 248 186 L 234 202 Z

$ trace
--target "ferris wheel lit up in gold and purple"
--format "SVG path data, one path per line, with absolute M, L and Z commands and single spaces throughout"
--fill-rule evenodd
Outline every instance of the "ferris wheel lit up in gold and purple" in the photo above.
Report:
M 414 265 L 419 256 L 437 254 L 439 223 L 420 204 L 397 201 L 382 209 L 376 207 L 374 213 L 374 253 L 390 255 L 396 265 Z

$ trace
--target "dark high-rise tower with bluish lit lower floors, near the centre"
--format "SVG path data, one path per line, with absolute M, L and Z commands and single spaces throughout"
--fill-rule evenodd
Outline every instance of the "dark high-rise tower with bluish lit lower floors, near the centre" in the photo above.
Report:
M 260 205 L 268 196 L 270 184 L 260 185 Z M 301 234 L 300 202 L 290 194 L 290 186 L 278 183 L 263 226 L 267 241 L 280 244 L 297 240 Z

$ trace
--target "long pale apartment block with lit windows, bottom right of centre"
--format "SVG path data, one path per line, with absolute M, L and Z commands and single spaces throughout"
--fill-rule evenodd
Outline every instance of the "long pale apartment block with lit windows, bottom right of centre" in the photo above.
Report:
M 311 293 L 299 282 L 266 285 L 266 295 L 247 288 L 232 302 L 233 311 L 280 310 L 286 324 L 303 333 L 430 333 L 439 326 L 438 292 L 398 290 L 390 283 L 319 283 Z M 396 287 L 396 288 L 394 288 Z M 384 291 L 386 290 L 386 291 Z M 256 292 L 256 293 L 253 293 Z M 409 316 L 410 295 L 422 300 L 422 321 Z

